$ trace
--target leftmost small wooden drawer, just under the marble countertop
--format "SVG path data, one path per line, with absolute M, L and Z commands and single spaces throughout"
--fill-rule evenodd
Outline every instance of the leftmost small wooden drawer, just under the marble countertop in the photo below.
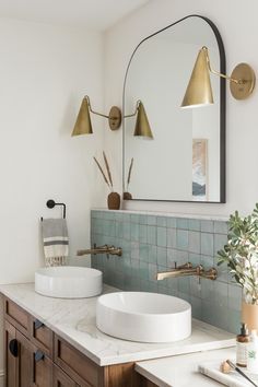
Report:
M 4 297 L 5 318 L 17 328 L 23 335 L 30 332 L 30 315 L 15 303 Z

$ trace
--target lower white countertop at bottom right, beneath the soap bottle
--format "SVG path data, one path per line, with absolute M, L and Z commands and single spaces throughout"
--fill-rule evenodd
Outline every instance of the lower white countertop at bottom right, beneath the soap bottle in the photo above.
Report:
M 220 383 L 200 374 L 198 365 L 207 361 L 220 364 L 226 359 L 235 363 L 235 356 L 236 349 L 231 348 L 140 362 L 136 364 L 136 370 L 160 387 L 221 386 Z

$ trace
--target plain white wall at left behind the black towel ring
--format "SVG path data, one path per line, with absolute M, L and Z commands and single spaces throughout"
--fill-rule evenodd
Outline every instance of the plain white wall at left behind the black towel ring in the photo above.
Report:
M 103 109 L 103 37 L 0 20 L 0 283 L 27 282 L 44 265 L 39 219 L 61 214 L 47 199 L 67 203 L 71 257 L 90 246 L 91 207 L 105 204 L 92 159 L 102 150 L 102 118 L 93 136 L 71 138 L 85 93 Z

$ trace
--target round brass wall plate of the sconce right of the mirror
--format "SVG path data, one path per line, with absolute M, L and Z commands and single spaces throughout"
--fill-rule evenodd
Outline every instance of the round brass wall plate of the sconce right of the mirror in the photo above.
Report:
M 230 82 L 231 93 L 236 99 L 245 99 L 253 93 L 256 85 L 256 75 L 249 64 L 237 64 L 233 70 L 231 78 L 235 80 L 244 80 L 241 83 Z

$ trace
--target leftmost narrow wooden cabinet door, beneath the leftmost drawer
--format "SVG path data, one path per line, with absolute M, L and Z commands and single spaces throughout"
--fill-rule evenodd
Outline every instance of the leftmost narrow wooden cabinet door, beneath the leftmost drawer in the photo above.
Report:
M 16 352 L 15 352 L 16 351 Z M 16 330 L 9 324 L 4 322 L 4 368 L 5 368 L 5 387 L 16 387 L 17 378 L 17 340 Z

